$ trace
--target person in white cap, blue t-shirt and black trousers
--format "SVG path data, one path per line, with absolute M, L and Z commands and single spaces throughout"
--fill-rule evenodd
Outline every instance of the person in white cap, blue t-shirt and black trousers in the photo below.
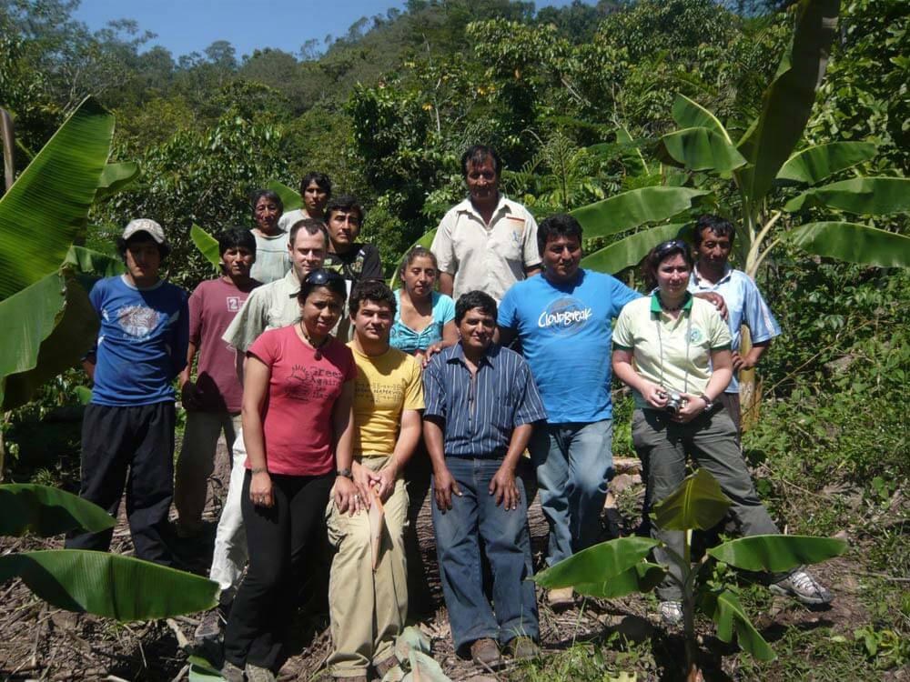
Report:
M 162 530 L 174 494 L 172 382 L 187 364 L 187 294 L 158 279 L 170 247 L 154 220 L 131 221 L 117 250 L 126 274 L 99 280 L 88 295 L 101 328 L 83 363 L 95 386 L 82 423 L 79 496 L 116 517 L 126 483 L 136 557 L 170 565 Z M 72 534 L 66 547 L 106 551 L 112 535 Z

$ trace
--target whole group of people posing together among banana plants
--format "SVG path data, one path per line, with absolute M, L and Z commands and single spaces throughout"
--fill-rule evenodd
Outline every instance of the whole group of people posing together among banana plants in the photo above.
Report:
M 319 173 L 303 178 L 299 211 L 283 214 L 275 193 L 257 192 L 256 226 L 218 236 L 222 276 L 192 296 L 160 279 L 169 247 L 147 218 L 118 240 L 126 273 L 91 291 L 101 328 L 85 361 L 94 388 L 80 494 L 116 513 L 126 486 L 136 556 L 170 565 L 172 499 L 177 535 L 197 536 L 220 435 L 232 452 L 209 574 L 220 602 L 197 630 L 203 640 L 223 635 L 228 680 L 275 678 L 319 557 L 330 560 L 331 674 L 366 680 L 398 664 L 409 604 L 403 472 L 415 457 L 432 469 L 455 647 L 490 667 L 503 652 L 535 656 L 530 500 L 516 467 L 529 452 L 548 565 L 599 541 L 612 372 L 634 394 L 647 505 L 672 492 L 691 459 L 718 479 L 743 533 L 778 532 L 740 452 L 732 377 L 780 329 L 753 281 L 727 263 L 733 226 L 703 216 L 697 262 L 681 240 L 655 246 L 642 295 L 580 266 L 573 217 L 538 226 L 502 196 L 490 147 L 470 147 L 461 163 L 469 196 L 430 249 L 404 257 L 396 291 L 380 279 L 375 246 L 358 241 L 363 209 L 332 197 Z M 741 325 L 753 342 L 742 355 Z M 175 484 L 177 377 L 187 424 Z M 680 532 L 651 532 L 681 553 Z M 66 546 L 106 550 L 110 540 L 109 530 L 82 533 Z M 770 587 L 808 604 L 831 600 L 802 569 Z M 679 623 L 671 577 L 658 595 L 662 617 Z M 574 594 L 546 598 L 559 608 Z

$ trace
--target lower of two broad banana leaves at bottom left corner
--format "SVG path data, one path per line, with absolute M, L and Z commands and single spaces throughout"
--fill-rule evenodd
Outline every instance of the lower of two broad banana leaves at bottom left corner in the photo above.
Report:
M 13 577 L 52 606 L 122 621 L 196 613 L 217 603 L 218 584 L 205 577 L 85 549 L 0 557 L 0 584 Z

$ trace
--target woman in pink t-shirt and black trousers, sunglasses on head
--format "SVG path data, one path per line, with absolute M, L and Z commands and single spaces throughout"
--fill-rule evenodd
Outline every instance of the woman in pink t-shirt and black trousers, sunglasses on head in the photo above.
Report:
M 242 680 L 244 665 L 248 678 L 274 679 L 268 676 L 278 671 L 303 583 L 301 558 L 321 536 L 329 491 L 334 485 L 341 511 L 360 506 L 350 477 L 357 368 L 330 334 L 346 294 L 338 274 L 309 273 L 298 294 L 298 323 L 263 333 L 247 351 L 242 509 L 249 567 L 227 620 L 227 680 Z

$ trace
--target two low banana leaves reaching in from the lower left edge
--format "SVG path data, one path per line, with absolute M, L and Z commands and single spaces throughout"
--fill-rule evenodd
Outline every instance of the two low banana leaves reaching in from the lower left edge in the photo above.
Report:
M 0 535 L 52 537 L 115 525 L 104 509 L 64 490 L 0 486 Z M 217 603 L 216 582 L 107 552 L 47 549 L 0 557 L 0 585 L 16 577 L 54 607 L 120 621 L 179 616 Z

